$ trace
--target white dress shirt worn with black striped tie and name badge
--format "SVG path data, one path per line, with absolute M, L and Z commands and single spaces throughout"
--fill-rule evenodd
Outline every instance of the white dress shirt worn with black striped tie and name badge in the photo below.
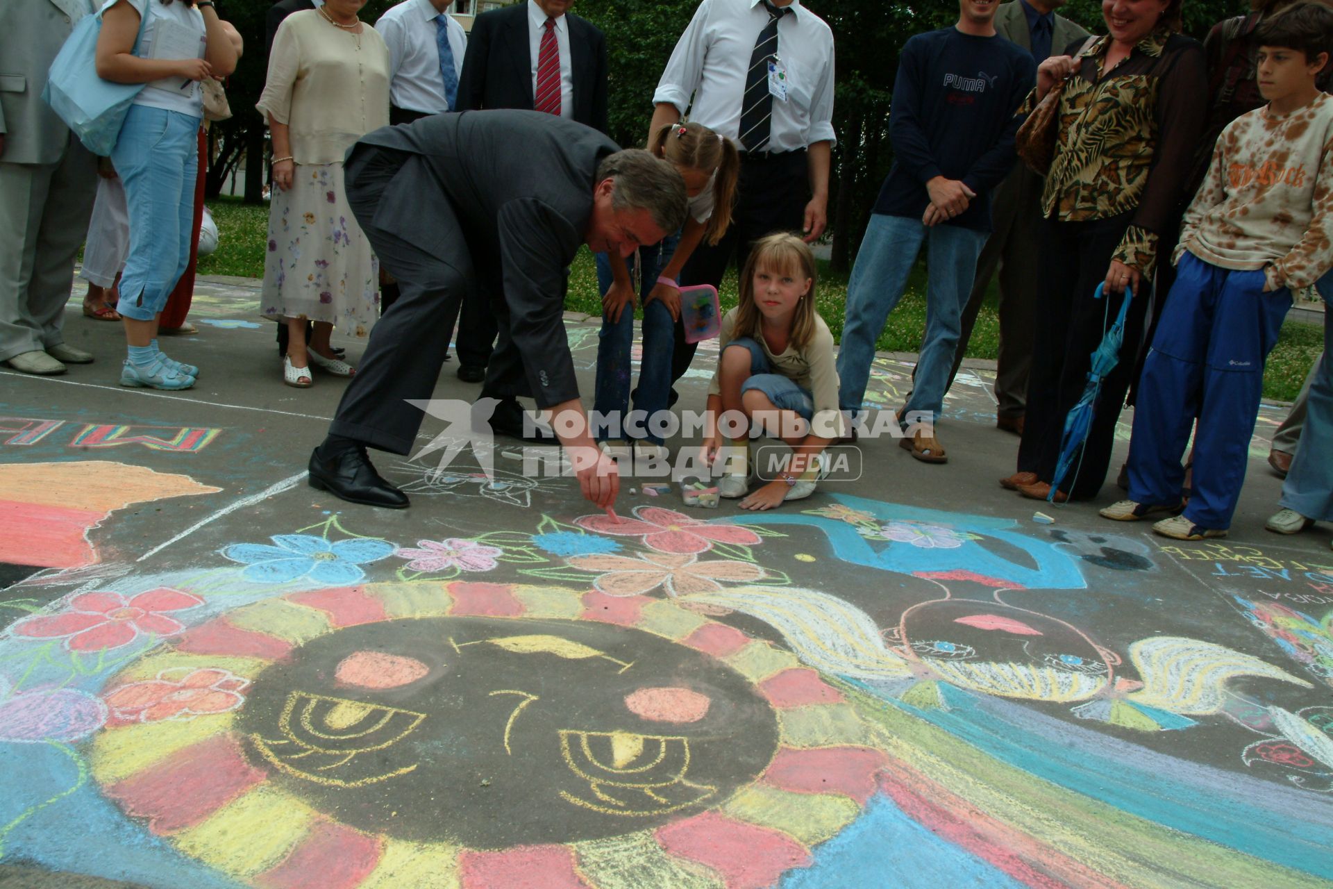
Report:
M 774 152 L 836 141 L 833 32 L 800 0 L 793 0 L 788 9 L 777 23 L 777 57 L 786 68 L 786 101 L 773 99 L 768 151 Z M 766 24 L 762 0 L 702 0 L 670 53 L 653 103 L 670 103 L 682 115 L 689 107 L 690 120 L 738 140 L 745 73 L 758 32 Z

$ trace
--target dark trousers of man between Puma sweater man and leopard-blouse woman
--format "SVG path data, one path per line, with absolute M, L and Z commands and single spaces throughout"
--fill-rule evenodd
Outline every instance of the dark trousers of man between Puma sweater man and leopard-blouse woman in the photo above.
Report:
M 1028 373 L 1032 369 L 1033 324 L 1041 269 L 1041 189 L 1045 180 L 1020 163 L 992 197 L 994 232 L 977 259 L 972 296 L 962 309 L 958 352 L 953 357 L 949 385 L 958 375 L 972 339 L 986 288 L 1000 271 L 1000 360 L 996 373 L 996 413 L 1021 417 L 1028 404 Z

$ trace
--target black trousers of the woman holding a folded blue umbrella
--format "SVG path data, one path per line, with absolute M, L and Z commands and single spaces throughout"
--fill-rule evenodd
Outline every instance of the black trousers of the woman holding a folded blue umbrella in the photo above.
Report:
M 1046 221 L 1028 412 L 1018 445 L 1018 470 L 1034 472 L 1042 481 L 1049 482 L 1054 474 L 1065 417 L 1088 385 L 1092 353 L 1120 312 L 1122 297 L 1097 300 L 1093 293 L 1097 284 L 1106 280 L 1112 253 L 1129 228 L 1130 217 L 1132 213 L 1124 213 L 1088 223 Z M 1093 497 L 1106 480 L 1116 423 L 1137 367 L 1149 303 L 1146 289 L 1134 293 L 1129 304 L 1120 363 L 1102 383 L 1082 461 L 1080 464 L 1076 456 L 1073 469 L 1060 484 L 1070 497 Z

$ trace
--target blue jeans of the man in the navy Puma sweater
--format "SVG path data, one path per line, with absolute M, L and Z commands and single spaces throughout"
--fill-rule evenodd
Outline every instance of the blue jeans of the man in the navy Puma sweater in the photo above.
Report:
M 926 228 L 921 220 L 906 216 L 870 216 L 846 285 L 846 321 L 837 356 L 838 404 L 844 411 L 861 411 L 874 361 L 874 341 L 889 312 L 902 299 L 921 243 L 929 239 L 925 339 L 906 409 L 928 411 L 932 419 L 938 417 L 949 388 L 953 353 L 958 348 L 962 307 L 972 293 L 977 257 L 988 236 L 988 232 L 958 225 Z

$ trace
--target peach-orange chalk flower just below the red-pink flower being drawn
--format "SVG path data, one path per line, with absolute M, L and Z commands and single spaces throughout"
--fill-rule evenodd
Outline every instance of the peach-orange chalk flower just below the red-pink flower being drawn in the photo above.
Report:
M 599 573 L 593 586 L 607 596 L 640 596 L 659 586 L 668 596 L 713 593 L 722 589 L 720 581 L 750 584 L 764 577 L 764 569 L 750 562 L 697 558 L 694 553 L 644 553 L 635 558 L 599 553 L 575 556 L 569 564 Z

